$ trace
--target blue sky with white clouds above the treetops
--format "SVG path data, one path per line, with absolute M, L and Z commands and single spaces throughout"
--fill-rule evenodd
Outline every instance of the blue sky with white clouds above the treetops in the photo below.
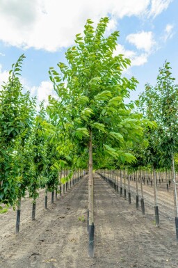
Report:
M 154 86 L 159 68 L 166 61 L 172 76 L 178 75 L 177 0 L 0 0 L 0 84 L 11 65 L 26 56 L 22 84 L 38 102 L 54 95 L 48 70 L 65 62 L 66 50 L 83 33 L 87 19 L 95 26 L 108 16 L 107 35 L 120 31 L 115 54 L 131 59 L 124 72 L 139 84 L 131 92 L 137 100 L 148 82 Z

